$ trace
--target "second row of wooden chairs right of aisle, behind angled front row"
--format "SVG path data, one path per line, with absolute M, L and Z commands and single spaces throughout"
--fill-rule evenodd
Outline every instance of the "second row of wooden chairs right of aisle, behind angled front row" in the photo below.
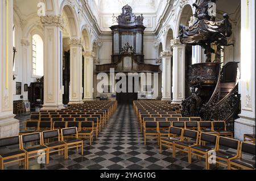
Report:
M 226 130 L 225 121 L 152 121 L 151 119 L 152 117 L 144 119 L 144 145 L 146 145 L 146 138 L 157 138 L 159 145 L 162 137 L 169 136 L 171 127 L 233 137 L 233 132 Z

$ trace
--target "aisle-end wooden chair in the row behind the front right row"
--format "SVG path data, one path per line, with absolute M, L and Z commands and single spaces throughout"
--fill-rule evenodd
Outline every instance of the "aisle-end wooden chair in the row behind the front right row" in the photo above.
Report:
M 159 145 L 158 139 L 158 122 L 156 121 L 145 121 L 144 122 L 144 145 L 146 145 L 146 138 L 156 138 Z

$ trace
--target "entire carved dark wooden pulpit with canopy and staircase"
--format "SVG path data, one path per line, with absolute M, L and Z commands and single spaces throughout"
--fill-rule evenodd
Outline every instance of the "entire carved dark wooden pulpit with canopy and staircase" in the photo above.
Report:
M 221 50 L 229 46 L 227 37 L 232 35 L 229 15 L 215 21 L 216 0 L 201 0 L 193 4 L 196 13 L 189 27 L 180 25 L 180 41 L 189 45 L 200 45 L 205 49 L 207 62 L 189 67 L 192 95 L 182 103 L 183 116 L 200 116 L 203 120 L 237 119 L 240 111 L 238 94 L 238 62 L 228 62 L 221 68 Z M 212 46 L 214 44 L 215 46 Z M 211 54 L 215 54 L 212 62 Z

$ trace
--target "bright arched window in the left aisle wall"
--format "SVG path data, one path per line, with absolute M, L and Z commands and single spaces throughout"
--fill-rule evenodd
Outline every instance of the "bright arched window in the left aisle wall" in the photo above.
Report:
M 39 35 L 32 37 L 32 75 L 42 77 L 44 75 L 44 45 Z

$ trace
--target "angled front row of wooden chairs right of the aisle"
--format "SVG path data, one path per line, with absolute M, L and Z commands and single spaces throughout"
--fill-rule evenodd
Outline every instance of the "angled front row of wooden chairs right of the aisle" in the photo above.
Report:
M 210 163 L 222 165 L 228 169 L 255 170 L 255 162 L 243 158 L 243 153 L 255 156 L 255 144 L 240 142 L 233 138 L 217 136 L 215 134 L 171 127 L 168 137 L 160 139 L 160 153 L 162 146 L 172 149 L 173 158 L 176 150 L 188 154 L 188 163 L 192 163 L 192 155 L 205 159 L 205 169 L 210 169 Z M 221 148 L 231 148 L 236 153 L 222 151 Z M 216 159 L 216 160 L 215 160 Z

